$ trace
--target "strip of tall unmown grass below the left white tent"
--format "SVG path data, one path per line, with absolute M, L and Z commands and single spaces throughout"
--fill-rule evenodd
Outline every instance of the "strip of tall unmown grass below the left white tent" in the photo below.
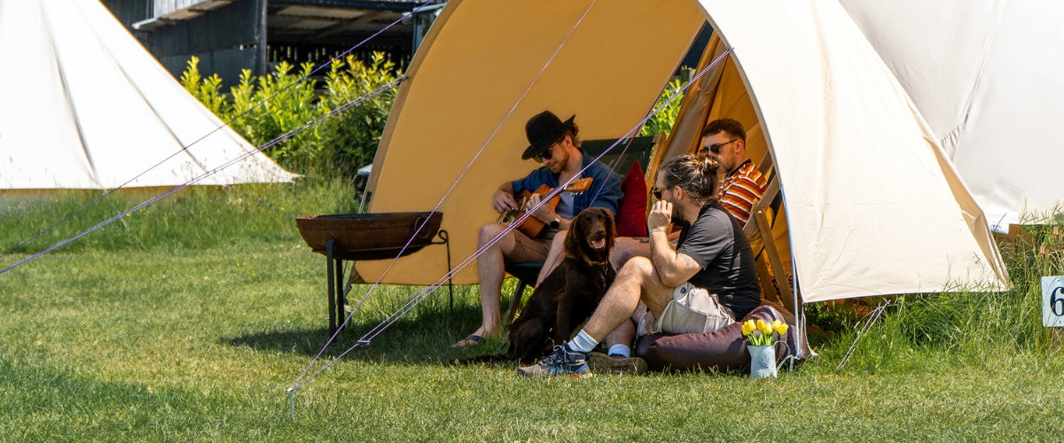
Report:
M 57 190 L 32 195 L 0 195 L 0 252 L 26 240 L 18 252 L 37 252 L 89 229 L 167 189 L 104 192 Z M 313 195 L 313 197 L 312 197 Z M 118 251 L 153 248 L 209 248 L 248 239 L 298 239 L 294 218 L 353 212 L 353 187 L 343 181 L 301 184 L 194 186 L 129 214 L 64 251 Z M 56 224 L 57 223 L 57 224 Z M 54 227 L 49 228 L 52 225 Z

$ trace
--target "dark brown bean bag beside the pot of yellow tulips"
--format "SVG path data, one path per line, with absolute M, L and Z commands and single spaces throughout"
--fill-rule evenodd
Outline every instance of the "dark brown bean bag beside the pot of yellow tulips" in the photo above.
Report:
M 635 355 L 647 360 L 651 371 L 749 371 L 750 353 L 747 352 L 746 338 L 743 337 L 743 322 L 750 319 L 761 319 L 768 323 L 775 320 L 791 325 L 787 334 L 776 342 L 777 363 L 795 352 L 798 342 L 798 328 L 795 327 L 795 317 L 780 305 L 763 304 L 750 311 L 743 321 L 733 323 L 722 329 L 704 334 L 654 334 L 639 339 L 635 344 Z M 809 355 L 808 342 L 802 339 L 802 346 Z

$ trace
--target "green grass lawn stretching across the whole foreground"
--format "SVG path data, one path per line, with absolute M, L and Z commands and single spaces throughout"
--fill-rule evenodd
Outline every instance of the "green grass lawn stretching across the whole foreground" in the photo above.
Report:
M 0 441 L 1055 441 L 1064 431 L 1064 359 L 1041 326 L 1037 280 L 1062 260 L 1011 250 L 1013 291 L 907 296 L 842 369 L 852 322 L 772 380 L 546 380 L 513 364 L 452 364 L 491 351 L 450 347 L 480 321 L 476 290 L 460 287 L 453 313 L 437 291 L 289 397 L 328 340 L 325 259 L 293 218 L 353 204 L 335 184 L 239 192 L 183 193 L 0 275 Z M 0 205 L 0 246 L 83 198 Z M 87 224 L 57 231 L 137 202 L 107 199 L 85 211 Z M 379 288 L 311 372 L 418 290 Z

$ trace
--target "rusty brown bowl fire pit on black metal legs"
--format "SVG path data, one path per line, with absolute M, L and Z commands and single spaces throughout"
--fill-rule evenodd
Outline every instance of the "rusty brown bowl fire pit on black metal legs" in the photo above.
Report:
M 340 285 L 344 280 L 344 260 L 392 259 L 413 254 L 429 244 L 447 244 L 449 270 L 451 252 L 447 231 L 439 228 L 443 221 L 444 214 L 434 211 L 339 214 L 296 218 L 296 227 L 299 228 L 299 235 L 303 237 L 306 245 L 326 256 L 329 333 L 335 333 L 342 323 L 340 312 L 347 296 Z M 422 224 L 425 226 L 421 226 Z M 421 228 L 418 229 L 418 226 Z M 442 241 L 432 241 L 437 236 Z M 408 241 L 410 244 L 406 244 Z M 351 276 L 353 280 L 353 266 Z M 453 290 L 451 297 L 453 304 Z

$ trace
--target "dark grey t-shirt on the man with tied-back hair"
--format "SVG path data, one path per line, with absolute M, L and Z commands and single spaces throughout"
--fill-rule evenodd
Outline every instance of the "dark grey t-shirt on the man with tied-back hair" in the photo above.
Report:
M 703 206 L 694 223 L 684 224 L 677 252 L 702 267 L 688 282 L 717 294 L 735 320 L 761 305 L 761 285 L 750 242 L 719 203 Z

